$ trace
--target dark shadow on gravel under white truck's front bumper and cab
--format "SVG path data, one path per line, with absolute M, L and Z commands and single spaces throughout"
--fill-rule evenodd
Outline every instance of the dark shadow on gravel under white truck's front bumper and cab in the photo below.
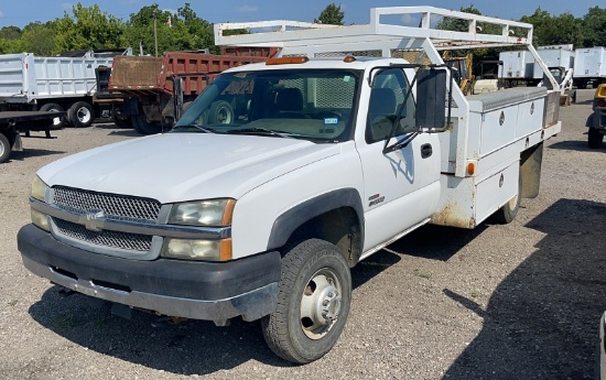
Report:
M 399 261 L 398 254 L 377 252 L 353 270 L 355 289 Z M 181 376 L 220 372 L 249 360 L 296 367 L 269 349 L 259 322 L 235 318 L 228 327 L 205 321 L 175 324 L 139 311 L 125 319 L 112 315 L 107 303 L 64 294 L 62 286 L 48 289 L 29 313 L 40 325 L 85 349 Z

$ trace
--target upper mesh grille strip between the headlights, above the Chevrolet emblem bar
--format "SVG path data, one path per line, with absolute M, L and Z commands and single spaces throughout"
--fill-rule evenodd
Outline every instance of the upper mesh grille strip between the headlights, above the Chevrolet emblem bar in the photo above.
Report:
M 53 187 L 52 203 L 76 213 L 104 211 L 109 218 L 156 221 L 160 202 L 126 195 L 105 194 L 71 187 Z

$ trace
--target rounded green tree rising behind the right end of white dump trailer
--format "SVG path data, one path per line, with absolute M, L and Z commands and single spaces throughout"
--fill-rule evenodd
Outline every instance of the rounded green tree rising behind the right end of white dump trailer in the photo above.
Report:
M 72 8 L 56 20 L 55 53 L 80 48 L 126 47 L 125 26 L 120 19 L 101 12 L 99 6 Z

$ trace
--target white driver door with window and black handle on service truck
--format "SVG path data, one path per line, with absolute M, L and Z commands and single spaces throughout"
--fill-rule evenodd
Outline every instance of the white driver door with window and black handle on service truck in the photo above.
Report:
M 365 251 L 426 220 L 440 198 L 437 134 L 414 132 L 415 105 L 412 94 L 407 97 L 410 84 L 404 70 L 381 69 L 372 83 L 365 143 L 358 144 L 365 177 Z M 389 145 L 411 140 L 383 153 L 387 139 Z

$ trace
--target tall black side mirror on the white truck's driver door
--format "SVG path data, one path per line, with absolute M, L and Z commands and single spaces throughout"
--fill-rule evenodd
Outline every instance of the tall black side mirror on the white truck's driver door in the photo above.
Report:
M 416 128 L 445 129 L 446 84 L 444 68 L 420 67 L 416 73 Z M 448 102 L 450 107 L 450 102 Z

